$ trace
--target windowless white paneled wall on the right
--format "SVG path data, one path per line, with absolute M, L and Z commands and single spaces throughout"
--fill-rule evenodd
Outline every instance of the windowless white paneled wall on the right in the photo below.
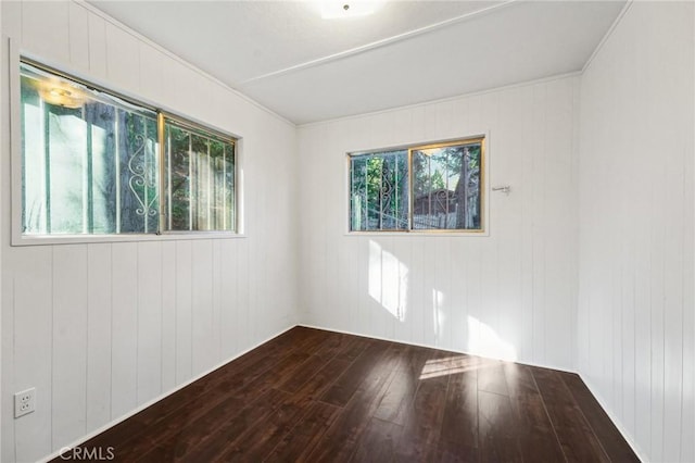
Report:
M 634 2 L 582 76 L 579 371 L 641 455 L 695 461 L 692 2 Z

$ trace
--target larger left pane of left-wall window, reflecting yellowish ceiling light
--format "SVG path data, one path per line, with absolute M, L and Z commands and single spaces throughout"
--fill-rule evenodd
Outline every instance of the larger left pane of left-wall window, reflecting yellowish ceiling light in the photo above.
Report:
M 23 63 L 23 233 L 157 230 L 155 113 Z

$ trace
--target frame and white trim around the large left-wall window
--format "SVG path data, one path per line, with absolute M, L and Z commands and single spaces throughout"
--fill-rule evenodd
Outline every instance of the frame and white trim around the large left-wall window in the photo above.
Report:
M 132 234 L 55 234 L 55 235 L 25 235 L 22 232 L 22 209 L 24 207 L 22 199 L 22 182 L 23 182 L 23 161 L 22 161 L 22 127 L 21 121 L 21 63 L 26 63 L 39 70 L 49 72 L 62 78 L 76 82 L 87 88 L 94 89 L 106 95 L 111 95 L 123 100 L 126 103 L 137 105 L 156 113 L 157 124 L 157 141 L 160 142 L 160 157 L 164 153 L 162 145 L 164 138 L 163 128 L 165 120 L 170 120 L 186 127 L 203 130 L 215 137 L 228 140 L 235 147 L 235 230 L 166 230 L 163 229 L 162 215 L 165 210 L 160 205 L 159 216 L 160 225 L 157 233 L 132 233 Z M 197 239 L 229 239 L 245 238 L 243 227 L 243 139 L 231 135 L 216 127 L 212 127 L 206 123 L 200 123 L 188 117 L 178 115 L 174 111 L 169 111 L 161 105 L 143 102 L 142 100 L 123 95 L 117 90 L 105 88 L 104 86 L 94 84 L 92 79 L 83 77 L 80 73 L 68 73 L 45 61 L 39 61 L 28 53 L 22 53 L 16 40 L 10 39 L 9 52 L 9 120 L 10 120 L 10 173 L 12 175 L 10 182 L 10 226 L 11 226 L 11 246 L 37 246 L 37 245 L 68 245 L 68 243 L 105 243 L 105 242 L 138 242 L 138 241 L 168 241 L 168 240 L 197 240 Z M 7 88 L 7 87 L 5 87 Z M 165 191 L 165 176 L 162 170 L 165 167 L 160 162 L 160 195 Z

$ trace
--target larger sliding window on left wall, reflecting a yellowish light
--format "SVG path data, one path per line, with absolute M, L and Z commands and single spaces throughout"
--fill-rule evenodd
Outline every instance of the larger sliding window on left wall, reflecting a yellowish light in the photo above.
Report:
M 236 230 L 235 140 L 21 64 L 22 233 Z

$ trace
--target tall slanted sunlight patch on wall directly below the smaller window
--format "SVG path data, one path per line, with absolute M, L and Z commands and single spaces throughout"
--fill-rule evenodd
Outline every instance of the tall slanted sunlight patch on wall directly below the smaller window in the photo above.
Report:
M 407 309 L 408 267 L 381 246 L 369 241 L 369 296 L 400 322 Z

